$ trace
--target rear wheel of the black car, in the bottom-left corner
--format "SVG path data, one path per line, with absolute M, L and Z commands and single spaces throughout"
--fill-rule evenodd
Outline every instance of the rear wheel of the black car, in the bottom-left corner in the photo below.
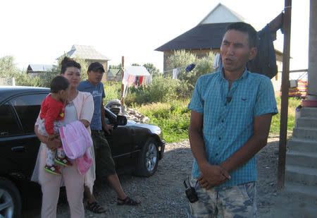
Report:
M 14 183 L 0 178 L 0 214 L 6 218 L 20 218 L 21 204 L 20 192 Z

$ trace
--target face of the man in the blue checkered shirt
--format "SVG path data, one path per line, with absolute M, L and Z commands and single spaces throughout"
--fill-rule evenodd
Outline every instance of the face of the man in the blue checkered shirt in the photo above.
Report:
M 249 47 L 249 35 L 238 30 L 225 32 L 220 47 L 225 71 L 239 73 L 244 71 L 247 62 L 256 56 L 256 47 Z

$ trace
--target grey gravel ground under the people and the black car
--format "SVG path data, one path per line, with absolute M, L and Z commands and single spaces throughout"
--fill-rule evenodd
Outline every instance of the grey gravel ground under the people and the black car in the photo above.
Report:
M 268 145 L 259 152 L 257 169 L 258 217 L 264 217 L 274 207 L 271 198 L 276 192 L 278 166 L 278 135 L 270 135 Z M 85 211 L 85 217 L 187 217 L 187 199 L 182 181 L 192 168 L 192 152 L 189 141 L 166 144 L 164 157 L 159 162 L 154 176 L 149 178 L 132 175 L 119 176 L 123 190 L 132 198 L 141 200 L 141 205 L 118 206 L 116 193 L 107 183 L 97 182 L 94 194 L 97 201 L 106 207 L 105 214 Z M 39 202 L 40 195 L 34 202 Z M 23 217 L 39 217 L 39 203 L 25 208 Z M 58 202 L 58 218 L 70 217 L 65 193 Z

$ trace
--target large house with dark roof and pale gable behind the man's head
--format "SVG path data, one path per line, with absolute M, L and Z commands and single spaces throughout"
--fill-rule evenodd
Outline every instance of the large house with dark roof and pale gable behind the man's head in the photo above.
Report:
M 235 22 L 247 20 L 223 4 L 218 4 L 197 26 L 155 49 L 163 52 L 163 70 L 168 70 L 168 57 L 177 50 L 185 50 L 199 58 L 209 52 L 219 53 L 225 28 Z M 281 52 L 276 51 L 276 60 L 278 66 L 282 64 Z

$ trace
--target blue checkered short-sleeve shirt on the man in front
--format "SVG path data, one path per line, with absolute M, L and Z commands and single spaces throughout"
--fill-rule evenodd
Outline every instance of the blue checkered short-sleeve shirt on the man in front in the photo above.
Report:
M 204 115 L 203 138 L 210 164 L 224 162 L 251 138 L 255 116 L 278 113 L 271 80 L 247 70 L 232 83 L 230 91 L 222 71 L 201 75 L 188 108 Z M 200 176 L 196 159 L 192 176 Z M 221 186 L 256 181 L 256 157 L 230 176 Z

